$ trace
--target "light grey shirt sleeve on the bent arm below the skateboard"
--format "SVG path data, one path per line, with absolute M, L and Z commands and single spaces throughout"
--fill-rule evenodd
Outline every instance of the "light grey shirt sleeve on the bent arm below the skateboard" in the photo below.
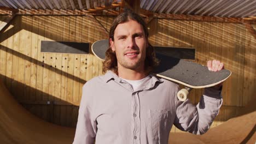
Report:
M 196 106 L 189 99 L 184 102 L 177 100 L 174 125 L 193 134 L 206 133 L 223 103 L 220 93 L 220 90 L 205 88 L 205 93 Z

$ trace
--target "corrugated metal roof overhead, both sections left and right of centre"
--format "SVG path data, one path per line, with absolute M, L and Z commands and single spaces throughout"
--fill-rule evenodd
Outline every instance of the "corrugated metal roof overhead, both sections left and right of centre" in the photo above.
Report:
M 14 9 L 97 9 L 121 0 L 0 0 Z M 219 17 L 256 16 L 255 0 L 141 0 L 141 8 L 154 13 Z

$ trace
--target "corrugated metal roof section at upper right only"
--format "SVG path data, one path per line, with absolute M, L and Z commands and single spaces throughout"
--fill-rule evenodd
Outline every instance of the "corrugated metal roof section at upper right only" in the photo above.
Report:
M 255 0 L 142 0 L 141 8 L 154 13 L 249 17 L 256 16 Z

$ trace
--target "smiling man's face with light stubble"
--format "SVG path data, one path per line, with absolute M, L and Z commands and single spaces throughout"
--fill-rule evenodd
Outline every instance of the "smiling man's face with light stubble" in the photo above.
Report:
M 147 40 L 143 27 L 136 21 L 120 23 L 114 31 L 110 45 L 115 51 L 118 68 L 144 70 Z

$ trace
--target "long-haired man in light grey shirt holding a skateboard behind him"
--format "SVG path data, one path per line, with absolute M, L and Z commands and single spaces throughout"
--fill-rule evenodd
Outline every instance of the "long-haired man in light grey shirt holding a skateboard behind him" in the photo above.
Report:
M 103 76 L 86 82 L 73 143 L 167 143 L 172 125 L 193 134 L 209 128 L 222 104 L 220 86 L 197 106 L 177 99 L 178 85 L 150 72 L 158 64 L 139 15 L 126 11 L 109 32 Z M 223 68 L 209 61 L 208 68 Z

